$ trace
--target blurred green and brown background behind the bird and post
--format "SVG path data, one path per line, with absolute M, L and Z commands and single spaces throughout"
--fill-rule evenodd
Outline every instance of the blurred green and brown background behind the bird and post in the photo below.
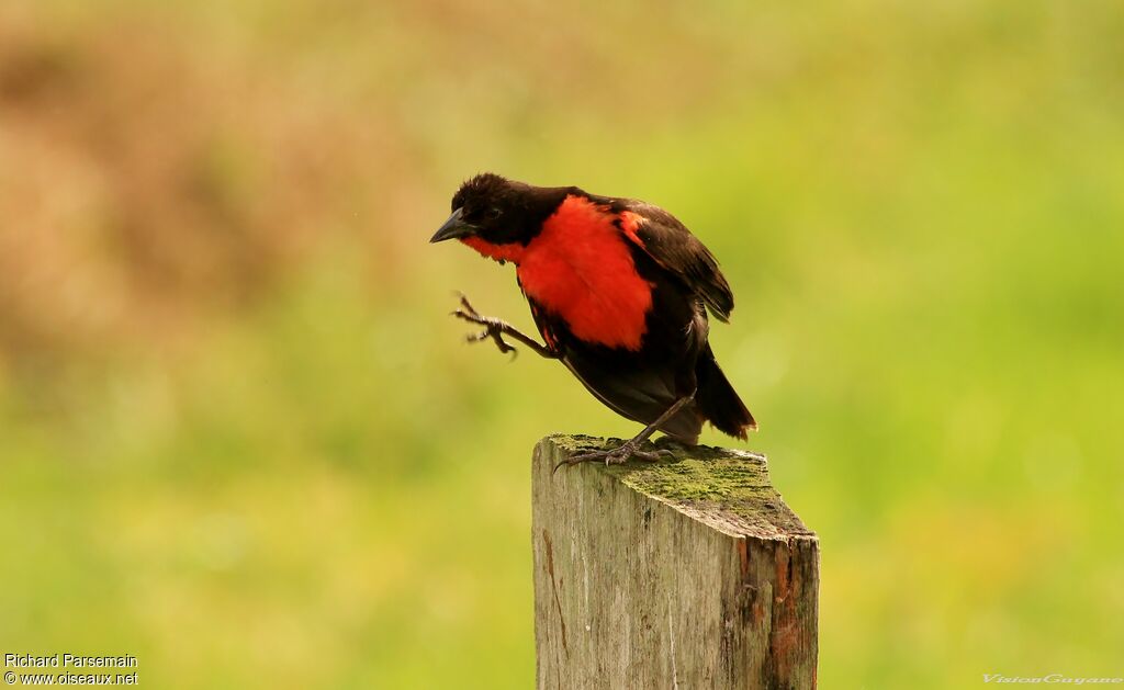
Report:
M 635 425 L 447 318 L 490 170 L 720 258 L 822 687 L 1124 671 L 1116 0 L 178 4 L 0 3 L 0 652 L 529 687 L 531 448 Z

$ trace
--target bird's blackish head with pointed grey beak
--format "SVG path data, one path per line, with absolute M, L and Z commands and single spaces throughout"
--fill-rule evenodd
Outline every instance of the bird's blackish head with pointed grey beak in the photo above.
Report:
M 453 194 L 453 215 L 429 239 L 475 237 L 491 245 L 526 245 L 565 198 L 564 188 L 544 189 L 482 173 Z

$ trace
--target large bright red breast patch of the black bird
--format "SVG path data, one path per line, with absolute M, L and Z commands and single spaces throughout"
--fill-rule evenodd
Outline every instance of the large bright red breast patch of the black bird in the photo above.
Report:
M 636 272 L 627 227 L 635 235 L 635 219 L 571 194 L 524 248 L 517 271 L 524 291 L 579 339 L 640 349 L 652 284 Z

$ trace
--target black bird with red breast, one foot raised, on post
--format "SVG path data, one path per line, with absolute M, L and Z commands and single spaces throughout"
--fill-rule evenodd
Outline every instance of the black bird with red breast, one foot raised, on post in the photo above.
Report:
M 707 421 L 743 441 L 756 429 L 708 339 L 707 312 L 727 321 L 733 291 L 714 254 L 668 211 L 480 173 L 453 194 L 452 215 L 429 242 L 450 239 L 515 264 L 543 341 L 481 316 L 462 293 L 453 316 L 483 326 L 470 342 L 491 339 L 509 353 L 510 339 L 558 360 L 609 409 L 644 425 L 617 447 L 559 466 L 660 460 L 670 452 L 643 447 L 653 434 L 694 446 Z

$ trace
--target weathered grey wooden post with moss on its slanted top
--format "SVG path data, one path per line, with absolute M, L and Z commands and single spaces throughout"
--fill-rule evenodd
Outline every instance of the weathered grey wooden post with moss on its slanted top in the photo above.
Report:
M 816 686 L 816 535 L 764 457 L 698 447 L 667 462 L 551 470 L 534 455 L 537 687 Z

